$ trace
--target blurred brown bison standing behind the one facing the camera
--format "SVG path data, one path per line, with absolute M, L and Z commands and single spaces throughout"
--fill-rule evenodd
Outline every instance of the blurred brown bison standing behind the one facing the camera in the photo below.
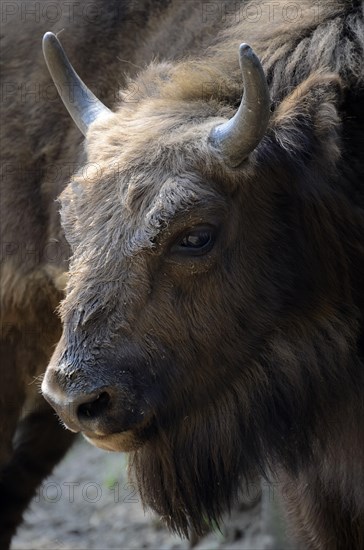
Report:
M 83 140 L 49 76 L 41 37 L 61 32 L 77 68 L 113 107 L 127 75 L 162 52 L 173 57 L 182 42 L 195 52 L 221 26 L 218 18 L 201 21 L 200 9 L 178 0 L 1 4 L 2 549 L 37 485 L 73 440 L 41 397 L 38 378 L 61 335 L 55 310 L 70 255 L 55 199 L 82 157 Z M 189 34 L 177 39 L 177 24 Z M 134 104 L 129 91 L 127 101 Z

